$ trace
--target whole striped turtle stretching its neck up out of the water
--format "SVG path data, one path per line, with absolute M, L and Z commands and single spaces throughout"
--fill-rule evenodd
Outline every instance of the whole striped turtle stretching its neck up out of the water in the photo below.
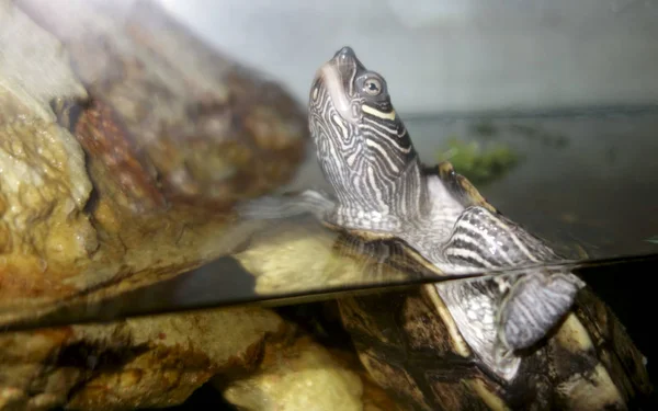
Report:
M 317 71 L 308 123 L 333 193 L 242 204 L 243 218 L 311 214 L 408 270 L 488 273 L 338 300 L 372 377 L 405 409 L 628 409 L 646 358 L 565 258 L 489 204 L 450 162 L 423 164 L 382 75 L 343 47 Z

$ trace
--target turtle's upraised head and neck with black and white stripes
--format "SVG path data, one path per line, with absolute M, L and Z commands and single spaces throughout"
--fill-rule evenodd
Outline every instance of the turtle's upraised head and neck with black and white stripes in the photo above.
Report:
M 343 47 L 318 69 L 308 107 L 318 160 L 340 205 L 361 215 L 395 213 L 418 156 L 386 80 Z

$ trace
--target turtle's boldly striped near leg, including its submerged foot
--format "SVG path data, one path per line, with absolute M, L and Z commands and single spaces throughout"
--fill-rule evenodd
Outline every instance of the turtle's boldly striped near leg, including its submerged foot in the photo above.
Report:
M 480 206 L 462 213 L 442 258 L 455 269 L 492 272 L 498 284 L 498 338 L 510 351 L 542 340 L 571 309 L 576 294 L 585 286 L 564 269 L 541 265 L 559 262 L 542 240 Z

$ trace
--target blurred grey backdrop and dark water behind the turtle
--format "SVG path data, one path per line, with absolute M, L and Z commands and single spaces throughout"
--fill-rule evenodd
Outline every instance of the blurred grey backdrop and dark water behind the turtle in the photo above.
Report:
M 656 250 L 658 3 L 161 1 L 302 104 L 352 46 L 422 161 L 452 161 L 500 209 L 592 255 Z M 322 180 L 310 161 L 293 185 Z

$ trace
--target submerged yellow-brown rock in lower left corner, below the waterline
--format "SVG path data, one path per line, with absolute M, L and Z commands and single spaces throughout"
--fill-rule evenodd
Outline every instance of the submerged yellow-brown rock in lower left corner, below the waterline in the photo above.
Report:
M 272 311 L 235 308 L 0 334 L 0 409 L 178 404 L 216 374 L 252 370 L 285 331 Z

